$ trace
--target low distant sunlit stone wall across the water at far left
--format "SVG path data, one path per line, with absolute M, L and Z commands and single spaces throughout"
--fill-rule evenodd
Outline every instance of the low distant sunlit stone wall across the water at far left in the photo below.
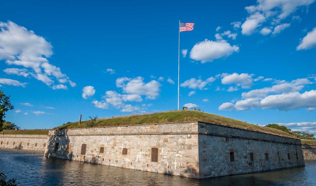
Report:
M 47 145 L 47 135 L 22 135 L 22 134 L 0 135 L 0 148 L 45 151 L 46 145 Z

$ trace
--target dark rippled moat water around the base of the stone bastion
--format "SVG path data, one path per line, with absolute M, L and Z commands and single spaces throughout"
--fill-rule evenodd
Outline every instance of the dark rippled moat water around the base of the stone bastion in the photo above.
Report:
M 305 167 L 210 179 L 191 179 L 47 158 L 43 152 L 0 149 L 0 172 L 18 185 L 316 185 L 316 161 Z

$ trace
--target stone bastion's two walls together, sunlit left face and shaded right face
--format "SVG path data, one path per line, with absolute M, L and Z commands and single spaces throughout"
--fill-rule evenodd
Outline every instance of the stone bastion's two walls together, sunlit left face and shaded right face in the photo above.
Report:
M 301 140 L 200 121 L 49 131 L 45 156 L 191 178 L 304 166 Z

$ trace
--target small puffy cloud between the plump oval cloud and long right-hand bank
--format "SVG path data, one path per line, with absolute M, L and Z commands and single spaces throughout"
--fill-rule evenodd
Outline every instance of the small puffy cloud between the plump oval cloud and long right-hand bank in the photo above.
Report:
M 248 73 L 233 73 L 222 74 L 222 84 L 236 84 L 243 89 L 250 88 L 252 86 L 252 76 Z

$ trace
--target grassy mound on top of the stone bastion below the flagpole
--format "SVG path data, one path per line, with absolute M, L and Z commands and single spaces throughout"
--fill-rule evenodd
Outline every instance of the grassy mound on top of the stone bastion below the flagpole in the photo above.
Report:
M 192 110 L 176 110 L 167 111 L 146 115 L 131 115 L 124 117 L 105 118 L 97 120 L 93 127 L 105 127 L 105 126 L 120 126 L 120 125 L 136 125 L 136 124 L 149 124 L 149 123 L 168 123 L 168 122 L 184 122 L 184 121 L 204 121 L 209 123 L 215 123 L 225 126 L 238 127 L 258 132 L 282 135 L 293 137 L 291 134 L 281 130 L 277 130 L 269 127 L 262 127 L 253 125 L 244 121 L 234 120 L 231 118 L 209 114 L 205 112 L 192 111 Z M 69 128 L 85 128 L 88 121 L 82 121 L 80 126 L 78 122 L 68 123 L 54 129 L 69 129 Z

